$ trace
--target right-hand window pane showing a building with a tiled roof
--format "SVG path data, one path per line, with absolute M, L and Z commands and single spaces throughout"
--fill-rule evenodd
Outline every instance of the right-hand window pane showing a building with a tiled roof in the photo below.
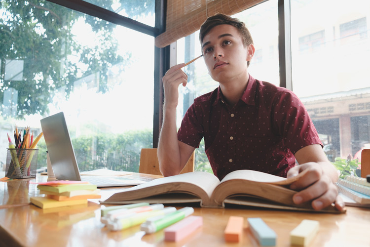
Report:
M 292 0 L 291 11 L 293 90 L 328 157 L 353 157 L 370 142 L 370 2 Z

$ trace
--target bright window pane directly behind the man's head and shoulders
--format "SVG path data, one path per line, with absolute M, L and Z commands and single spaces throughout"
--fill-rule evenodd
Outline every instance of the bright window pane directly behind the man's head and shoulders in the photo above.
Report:
M 279 85 L 278 53 L 278 15 L 277 0 L 263 2 L 253 8 L 240 12 L 233 17 L 243 21 L 252 34 L 256 53 L 251 61 L 249 73 L 256 79 Z M 266 36 L 268 34 L 268 36 Z M 201 54 L 199 31 L 177 41 L 177 63 L 188 62 Z M 188 76 L 186 87 L 179 88 L 177 107 L 177 126 L 195 97 L 213 91 L 219 86 L 208 75 L 204 59 L 200 58 L 184 68 Z M 204 152 L 203 140 L 195 153 L 195 169 L 210 170 L 208 158 Z

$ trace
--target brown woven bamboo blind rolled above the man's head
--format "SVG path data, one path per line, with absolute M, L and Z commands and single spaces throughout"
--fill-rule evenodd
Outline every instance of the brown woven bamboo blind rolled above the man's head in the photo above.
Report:
M 265 0 L 167 0 L 166 31 L 155 38 L 162 48 L 198 29 L 216 13 L 233 15 Z

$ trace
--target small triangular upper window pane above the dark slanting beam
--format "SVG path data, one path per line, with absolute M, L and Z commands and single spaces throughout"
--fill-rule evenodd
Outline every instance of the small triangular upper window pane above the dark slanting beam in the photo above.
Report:
M 155 0 L 85 0 L 151 27 L 155 24 Z

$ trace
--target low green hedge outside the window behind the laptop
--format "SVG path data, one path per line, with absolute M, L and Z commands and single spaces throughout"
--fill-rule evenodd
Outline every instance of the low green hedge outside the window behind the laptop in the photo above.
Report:
M 72 139 L 80 170 L 107 168 L 139 172 L 142 148 L 152 147 L 152 130 L 128 131 L 116 136 L 105 134 L 80 136 Z M 37 168 L 46 166 L 46 144 L 37 144 Z

